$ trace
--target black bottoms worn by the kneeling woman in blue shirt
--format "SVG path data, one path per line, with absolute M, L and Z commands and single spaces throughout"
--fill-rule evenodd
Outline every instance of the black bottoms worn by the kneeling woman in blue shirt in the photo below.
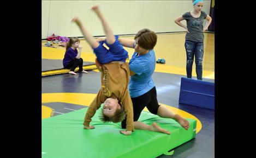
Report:
M 160 105 L 157 101 L 156 87 L 153 87 L 150 91 L 139 97 L 131 99 L 133 102 L 133 121 L 138 121 L 140 113 L 145 108 L 145 106 L 147 107 L 148 111 L 154 115 L 157 115 L 157 110 Z M 126 128 L 126 119 L 122 121 L 122 128 Z

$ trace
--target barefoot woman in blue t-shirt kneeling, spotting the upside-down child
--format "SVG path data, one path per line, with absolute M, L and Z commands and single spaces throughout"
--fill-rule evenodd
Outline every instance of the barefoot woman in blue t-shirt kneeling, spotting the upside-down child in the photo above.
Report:
M 152 74 L 156 67 L 156 56 L 153 50 L 157 43 L 156 33 L 149 29 L 142 29 L 135 35 L 134 40 L 119 37 L 118 41 L 124 47 L 135 49 L 129 62 L 131 75 L 129 92 L 133 102 L 134 128 L 170 134 L 169 131 L 160 128 L 155 122 L 152 125 L 147 125 L 138 121 L 141 111 L 146 106 L 154 115 L 175 119 L 187 130 L 189 123 L 186 119 L 170 111 L 165 106 L 159 105 L 157 101 L 157 91 L 152 79 Z M 122 128 L 126 128 L 126 119 L 122 122 Z

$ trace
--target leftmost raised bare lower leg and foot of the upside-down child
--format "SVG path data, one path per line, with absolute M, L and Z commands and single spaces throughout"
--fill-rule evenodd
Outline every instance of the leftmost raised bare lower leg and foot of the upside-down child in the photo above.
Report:
M 89 33 L 89 31 L 86 30 L 84 28 L 84 26 L 82 26 L 82 23 L 78 17 L 74 17 L 72 19 L 72 22 L 75 22 L 78 25 L 78 27 L 80 28 L 80 30 L 82 32 L 82 35 L 84 35 L 84 37 L 85 37 L 85 40 L 89 43 L 89 45 L 92 48 L 97 48 L 99 46 L 99 42 L 97 42 L 96 39 L 94 39 L 94 37 L 91 35 L 91 33 Z

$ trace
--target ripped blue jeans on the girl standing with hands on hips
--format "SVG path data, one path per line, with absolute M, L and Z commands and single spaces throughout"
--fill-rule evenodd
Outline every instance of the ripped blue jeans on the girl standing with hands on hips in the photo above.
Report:
M 202 80 L 204 43 L 186 40 L 185 48 L 187 52 L 187 78 L 192 78 L 192 66 L 195 56 L 195 71 L 197 72 L 197 79 Z

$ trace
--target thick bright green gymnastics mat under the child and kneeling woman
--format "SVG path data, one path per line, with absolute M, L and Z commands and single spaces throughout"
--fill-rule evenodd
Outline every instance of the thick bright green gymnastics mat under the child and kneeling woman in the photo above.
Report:
M 157 157 L 195 137 L 197 121 L 189 119 L 183 129 L 173 119 L 160 118 L 142 111 L 139 121 L 148 125 L 157 122 L 171 135 L 135 130 L 132 135 L 120 134 L 121 123 L 103 123 L 100 109 L 92 118 L 95 129 L 83 129 L 87 108 L 42 120 L 42 157 Z

